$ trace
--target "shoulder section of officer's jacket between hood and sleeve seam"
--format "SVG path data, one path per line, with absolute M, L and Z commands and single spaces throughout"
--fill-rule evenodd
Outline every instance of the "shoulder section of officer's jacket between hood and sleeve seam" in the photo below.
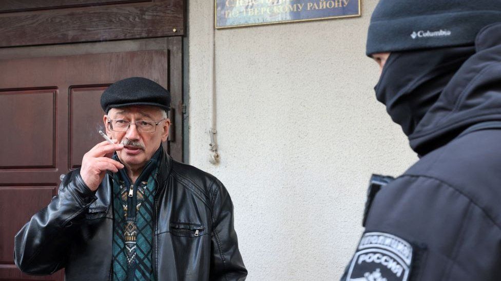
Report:
M 436 179 L 481 208 L 501 228 L 501 129 L 456 138 L 409 168 L 402 177 Z

